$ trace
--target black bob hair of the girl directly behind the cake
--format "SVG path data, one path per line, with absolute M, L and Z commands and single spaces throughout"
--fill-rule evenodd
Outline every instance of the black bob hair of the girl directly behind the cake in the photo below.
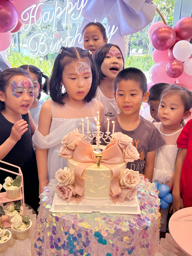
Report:
M 90 102 L 95 97 L 99 76 L 90 51 L 83 50 L 79 47 L 62 46 L 55 59 L 49 81 L 49 93 L 53 101 L 58 102 L 61 105 L 65 104 L 65 102 L 63 102 L 63 97 L 67 97 L 67 92 L 65 91 L 62 93 L 62 87 L 65 87 L 65 85 L 61 85 L 62 72 L 65 66 L 67 66 L 72 60 L 85 58 L 89 59 L 89 64 L 91 66 L 92 84 L 90 91 L 84 100 L 86 100 L 86 102 Z

